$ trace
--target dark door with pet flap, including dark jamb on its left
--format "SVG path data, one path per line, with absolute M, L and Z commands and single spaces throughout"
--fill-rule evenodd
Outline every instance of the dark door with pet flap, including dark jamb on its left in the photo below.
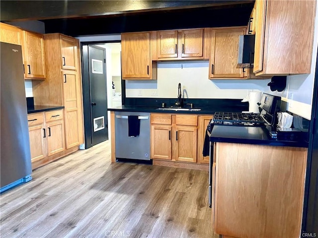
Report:
M 105 49 L 82 44 L 85 149 L 108 139 Z

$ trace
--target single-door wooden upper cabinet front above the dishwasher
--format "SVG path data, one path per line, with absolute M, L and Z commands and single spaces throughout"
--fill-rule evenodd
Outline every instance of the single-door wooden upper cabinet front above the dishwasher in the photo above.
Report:
M 150 33 L 121 35 L 123 78 L 150 78 Z

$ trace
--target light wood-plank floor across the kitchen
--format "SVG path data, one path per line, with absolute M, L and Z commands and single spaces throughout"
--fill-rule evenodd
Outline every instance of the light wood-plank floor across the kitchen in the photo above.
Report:
M 214 237 L 206 171 L 111 164 L 106 141 L 32 176 L 0 195 L 1 238 Z

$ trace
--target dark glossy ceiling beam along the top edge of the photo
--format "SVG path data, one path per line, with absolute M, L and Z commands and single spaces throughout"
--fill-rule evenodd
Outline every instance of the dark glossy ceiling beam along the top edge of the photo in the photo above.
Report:
M 254 0 L 5 0 L 1 1 L 0 21 L 106 16 L 251 2 Z

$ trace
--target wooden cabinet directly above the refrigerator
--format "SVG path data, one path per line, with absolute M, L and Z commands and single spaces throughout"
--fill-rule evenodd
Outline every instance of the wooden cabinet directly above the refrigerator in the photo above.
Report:
M 22 31 L 20 28 L 0 23 L 0 41 L 15 45 L 22 45 Z

